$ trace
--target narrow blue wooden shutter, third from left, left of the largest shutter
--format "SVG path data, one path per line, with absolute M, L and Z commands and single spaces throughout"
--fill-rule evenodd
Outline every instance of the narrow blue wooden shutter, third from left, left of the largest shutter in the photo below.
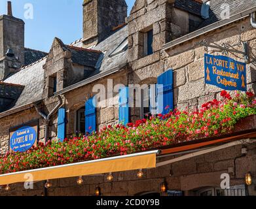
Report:
M 119 123 L 129 123 L 129 88 L 119 89 Z

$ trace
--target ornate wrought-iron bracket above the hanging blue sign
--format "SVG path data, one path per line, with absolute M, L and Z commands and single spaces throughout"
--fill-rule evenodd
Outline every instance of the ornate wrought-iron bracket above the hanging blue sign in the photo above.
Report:
M 244 56 L 244 61 L 246 61 L 246 62 L 249 61 L 249 50 L 248 50 L 247 42 L 240 41 L 240 42 L 238 42 L 238 44 L 231 46 L 228 43 L 222 43 L 221 45 L 219 45 L 214 42 L 210 43 L 207 40 L 202 40 L 201 42 L 199 42 L 199 44 L 201 46 L 205 46 L 204 50 L 206 50 L 206 52 L 209 51 L 208 48 L 210 47 L 210 48 L 217 49 L 217 50 L 219 50 L 218 52 L 222 52 L 223 54 L 226 54 L 226 55 L 229 53 L 242 54 Z M 236 48 L 234 48 L 235 46 L 243 46 L 243 51 L 236 50 Z M 234 56 L 236 56 L 235 54 L 234 54 Z M 236 56 L 236 57 L 238 57 L 238 56 Z

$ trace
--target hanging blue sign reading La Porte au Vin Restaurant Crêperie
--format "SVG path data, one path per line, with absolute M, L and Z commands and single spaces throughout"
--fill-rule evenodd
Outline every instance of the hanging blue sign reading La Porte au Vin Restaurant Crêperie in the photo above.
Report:
M 227 90 L 246 91 L 246 63 L 226 56 L 204 55 L 206 84 Z

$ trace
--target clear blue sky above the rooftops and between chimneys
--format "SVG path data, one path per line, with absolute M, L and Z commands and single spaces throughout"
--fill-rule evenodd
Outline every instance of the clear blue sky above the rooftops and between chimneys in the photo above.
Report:
M 54 37 L 65 44 L 82 37 L 83 0 L 12 0 L 12 14 L 25 22 L 25 46 L 48 52 Z M 135 0 L 126 0 L 128 13 Z M 30 4 L 30 5 L 27 5 Z M 33 6 L 33 19 L 25 18 Z M 0 0 L 0 14 L 6 14 L 7 0 Z

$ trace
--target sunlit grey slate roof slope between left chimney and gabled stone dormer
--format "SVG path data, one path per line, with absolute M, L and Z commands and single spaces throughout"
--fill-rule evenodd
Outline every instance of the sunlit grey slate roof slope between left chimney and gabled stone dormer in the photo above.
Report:
M 4 80 L 5 83 L 24 86 L 20 97 L 12 108 L 29 105 L 42 99 L 44 85 L 43 65 L 45 64 L 45 61 L 46 58 L 41 59 L 41 61 L 28 67 L 24 67 L 19 72 L 16 72 L 16 74 L 13 74 Z

